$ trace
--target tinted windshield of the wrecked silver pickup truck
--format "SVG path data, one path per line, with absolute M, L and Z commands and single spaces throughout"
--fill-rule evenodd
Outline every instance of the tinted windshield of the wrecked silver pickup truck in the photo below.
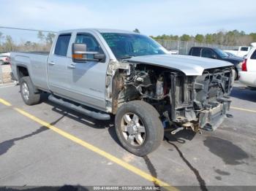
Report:
M 102 33 L 102 36 L 117 59 L 167 54 L 164 47 L 141 34 Z

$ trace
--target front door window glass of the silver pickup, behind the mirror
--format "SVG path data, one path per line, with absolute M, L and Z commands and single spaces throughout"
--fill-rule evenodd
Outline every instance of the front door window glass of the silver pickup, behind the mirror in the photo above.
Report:
M 94 36 L 90 34 L 78 34 L 75 38 L 75 43 L 83 43 L 86 44 L 86 49 L 88 52 L 100 52 L 99 43 Z

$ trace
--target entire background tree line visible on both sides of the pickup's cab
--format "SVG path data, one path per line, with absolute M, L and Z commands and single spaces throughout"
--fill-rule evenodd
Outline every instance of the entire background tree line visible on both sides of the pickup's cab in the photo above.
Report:
M 135 28 L 136 33 L 140 33 L 138 28 Z M 12 36 L 6 35 L 0 31 L 0 52 L 9 51 L 49 51 L 55 37 L 54 33 L 43 33 L 38 31 L 37 42 L 20 41 L 15 42 Z M 158 36 L 151 36 L 153 39 L 162 40 L 179 40 L 185 42 L 199 42 L 206 44 L 221 44 L 225 46 L 249 46 L 252 42 L 256 42 L 256 33 L 246 34 L 244 31 L 218 31 L 214 34 L 197 34 L 195 36 L 189 34 L 167 35 L 162 34 Z

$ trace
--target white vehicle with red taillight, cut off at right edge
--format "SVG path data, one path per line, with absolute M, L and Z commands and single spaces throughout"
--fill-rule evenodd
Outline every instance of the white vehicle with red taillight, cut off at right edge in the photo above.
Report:
M 256 47 L 252 48 L 242 63 L 239 82 L 249 87 L 256 87 Z

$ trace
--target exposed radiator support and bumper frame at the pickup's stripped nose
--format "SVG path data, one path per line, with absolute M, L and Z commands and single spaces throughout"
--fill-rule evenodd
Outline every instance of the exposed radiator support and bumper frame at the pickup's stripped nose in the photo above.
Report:
M 215 130 L 230 109 L 234 69 L 208 69 L 201 76 L 170 74 L 170 123 L 178 129 Z M 176 130 L 173 131 L 176 133 Z

